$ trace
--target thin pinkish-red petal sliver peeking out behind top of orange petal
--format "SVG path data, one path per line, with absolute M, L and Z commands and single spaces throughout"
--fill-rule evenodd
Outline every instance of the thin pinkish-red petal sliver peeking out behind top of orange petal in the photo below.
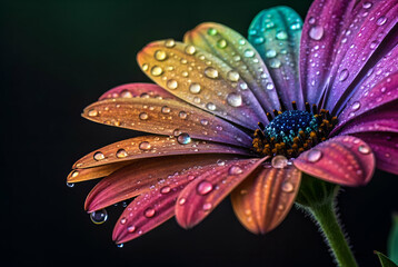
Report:
M 105 92 L 99 100 L 110 98 L 133 98 L 133 97 L 162 97 L 176 99 L 170 92 L 153 83 L 126 83 Z

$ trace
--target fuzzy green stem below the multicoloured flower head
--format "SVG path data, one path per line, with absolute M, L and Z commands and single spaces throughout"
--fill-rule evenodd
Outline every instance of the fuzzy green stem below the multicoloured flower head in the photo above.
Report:
M 332 250 L 338 265 L 342 267 L 357 267 L 357 261 L 336 217 L 332 201 L 307 207 L 307 210 L 312 214 L 320 230 L 325 234 L 327 244 Z

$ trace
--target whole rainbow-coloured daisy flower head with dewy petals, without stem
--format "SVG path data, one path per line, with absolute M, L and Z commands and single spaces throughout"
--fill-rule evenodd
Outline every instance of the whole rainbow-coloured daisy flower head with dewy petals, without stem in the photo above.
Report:
M 263 10 L 249 41 L 202 23 L 183 43 L 152 42 L 137 59 L 158 86 L 113 88 L 82 116 L 153 135 L 87 155 L 68 181 L 106 177 L 89 212 L 136 197 L 113 230 L 121 244 L 173 216 L 193 227 L 228 195 L 263 234 L 302 172 L 344 186 L 366 185 L 375 166 L 398 174 L 397 20 L 396 0 L 316 0 L 304 23 L 287 7 Z

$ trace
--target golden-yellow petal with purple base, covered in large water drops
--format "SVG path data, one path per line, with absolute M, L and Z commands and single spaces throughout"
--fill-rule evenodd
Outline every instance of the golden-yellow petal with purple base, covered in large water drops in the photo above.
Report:
M 267 119 L 247 83 L 222 60 L 191 44 L 171 44 L 170 40 L 152 42 L 137 56 L 155 82 L 187 102 L 248 129 L 256 129 L 257 122 Z

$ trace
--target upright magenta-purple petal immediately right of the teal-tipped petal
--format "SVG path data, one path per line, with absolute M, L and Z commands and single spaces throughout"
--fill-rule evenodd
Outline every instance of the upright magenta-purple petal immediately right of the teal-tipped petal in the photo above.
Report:
M 300 44 L 300 82 L 304 100 L 320 103 L 331 82 L 330 69 L 338 42 L 355 0 L 316 0 L 302 27 Z

